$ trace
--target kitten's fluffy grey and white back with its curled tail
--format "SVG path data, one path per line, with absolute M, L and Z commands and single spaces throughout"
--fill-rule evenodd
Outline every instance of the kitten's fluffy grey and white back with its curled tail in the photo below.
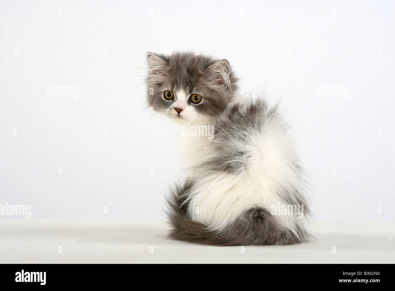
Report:
M 311 240 L 303 172 L 276 107 L 237 104 L 217 119 L 206 160 L 176 185 L 171 237 L 211 245 L 283 245 Z M 303 218 L 271 215 L 272 205 L 303 205 Z

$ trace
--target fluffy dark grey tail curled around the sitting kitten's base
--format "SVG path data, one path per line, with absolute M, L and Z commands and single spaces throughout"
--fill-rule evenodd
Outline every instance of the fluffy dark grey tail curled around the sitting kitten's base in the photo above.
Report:
M 250 208 L 233 224 L 220 232 L 192 220 L 188 215 L 188 192 L 193 183 L 175 185 L 167 197 L 167 215 L 171 226 L 170 237 L 205 245 L 286 245 L 308 242 L 313 239 L 304 229 L 290 231 L 282 228 L 269 211 Z

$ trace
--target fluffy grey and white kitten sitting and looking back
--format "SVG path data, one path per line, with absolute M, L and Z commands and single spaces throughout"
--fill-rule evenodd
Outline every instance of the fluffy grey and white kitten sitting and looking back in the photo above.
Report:
M 185 181 L 167 197 L 170 236 L 207 245 L 308 242 L 303 171 L 277 107 L 237 101 L 225 59 L 147 53 L 147 102 L 206 134 L 185 136 Z

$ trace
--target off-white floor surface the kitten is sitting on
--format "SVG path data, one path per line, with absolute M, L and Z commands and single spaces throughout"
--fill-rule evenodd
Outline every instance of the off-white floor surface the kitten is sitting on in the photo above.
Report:
M 2 263 L 394 263 L 394 223 L 324 223 L 317 241 L 214 247 L 170 240 L 160 220 L 0 219 Z

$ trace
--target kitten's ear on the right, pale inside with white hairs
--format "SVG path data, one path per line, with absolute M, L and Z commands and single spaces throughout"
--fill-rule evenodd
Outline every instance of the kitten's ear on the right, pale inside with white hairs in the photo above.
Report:
M 229 75 L 230 65 L 227 60 L 218 61 L 206 69 L 207 81 L 217 90 L 232 88 Z

